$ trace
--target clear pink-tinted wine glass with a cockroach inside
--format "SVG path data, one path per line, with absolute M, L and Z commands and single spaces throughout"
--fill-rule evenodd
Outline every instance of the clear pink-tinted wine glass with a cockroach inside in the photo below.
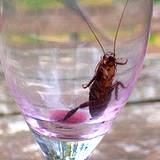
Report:
M 1 0 L 10 91 L 46 160 L 86 160 L 143 65 L 152 0 Z

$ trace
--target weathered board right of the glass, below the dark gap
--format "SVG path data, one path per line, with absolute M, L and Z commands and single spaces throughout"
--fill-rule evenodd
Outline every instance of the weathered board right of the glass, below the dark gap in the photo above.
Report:
M 95 151 L 101 160 L 159 160 L 160 103 L 131 105 Z M 102 155 L 102 158 L 98 158 Z

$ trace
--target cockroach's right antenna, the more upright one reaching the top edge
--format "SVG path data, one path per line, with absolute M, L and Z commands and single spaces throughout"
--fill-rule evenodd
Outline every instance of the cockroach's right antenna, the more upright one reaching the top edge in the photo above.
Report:
M 117 31 L 116 31 L 115 38 L 114 38 L 114 44 L 113 44 L 113 56 L 114 57 L 115 57 L 115 54 L 116 54 L 116 42 L 117 42 L 117 37 L 118 37 L 119 29 L 120 29 L 120 26 L 121 26 L 121 23 L 122 23 L 122 19 L 123 19 L 125 10 L 127 8 L 128 1 L 129 0 L 126 1 L 126 4 L 124 6 L 123 12 L 122 12 L 121 17 L 120 17 L 120 20 L 118 22 L 118 27 L 117 27 Z

